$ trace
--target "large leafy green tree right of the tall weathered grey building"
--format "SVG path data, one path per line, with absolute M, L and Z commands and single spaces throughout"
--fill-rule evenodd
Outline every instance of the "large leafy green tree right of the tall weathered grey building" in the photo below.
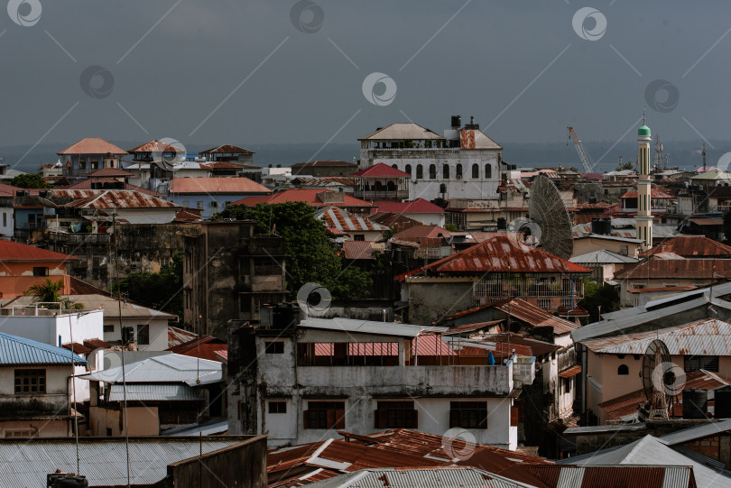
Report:
M 315 209 L 303 202 L 259 204 L 248 210 L 257 233 L 275 233 L 284 238 L 287 255 L 287 290 L 296 295 L 301 286 L 316 282 L 334 299 L 361 299 L 373 283 L 367 272 L 347 267 L 333 247 L 325 225 L 315 218 Z

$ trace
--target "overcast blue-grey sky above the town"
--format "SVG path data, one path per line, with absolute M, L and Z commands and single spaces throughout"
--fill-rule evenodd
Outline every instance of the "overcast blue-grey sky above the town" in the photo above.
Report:
M 664 139 L 728 138 L 727 0 L 29 1 L 0 15 L 0 146 L 348 143 L 409 119 L 441 132 L 449 115 L 499 143 L 564 141 L 566 125 L 626 142 L 652 100 Z M 575 30 L 582 7 L 598 13 Z M 93 65 L 113 77 L 91 77 L 97 98 L 79 83 Z M 374 72 L 396 90 L 380 106 L 362 87 Z

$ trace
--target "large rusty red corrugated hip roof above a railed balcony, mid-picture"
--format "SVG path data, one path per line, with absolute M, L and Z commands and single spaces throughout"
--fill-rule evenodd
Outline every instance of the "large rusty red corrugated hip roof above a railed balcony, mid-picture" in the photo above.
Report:
M 482 243 L 454 253 L 426 266 L 431 274 L 483 274 L 486 272 L 523 273 L 589 273 L 588 268 L 561 259 L 541 249 L 519 243 L 505 235 L 493 235 Z M 412 270 L 396 277 L 403 281 L 406 276 L 422 272 Z

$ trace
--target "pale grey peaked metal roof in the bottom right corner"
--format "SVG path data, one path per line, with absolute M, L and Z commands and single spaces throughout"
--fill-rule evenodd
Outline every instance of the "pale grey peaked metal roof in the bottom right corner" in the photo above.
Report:
M 698 486 L 724 488 L 731 478 L 716 473 L 688 456 L 668 447 L 657 437 L 645 436 L 631 444 L 595 451 L 581 456 L 572 456 L 556 462 L 560 465 L 676 465 L 692 466 Z

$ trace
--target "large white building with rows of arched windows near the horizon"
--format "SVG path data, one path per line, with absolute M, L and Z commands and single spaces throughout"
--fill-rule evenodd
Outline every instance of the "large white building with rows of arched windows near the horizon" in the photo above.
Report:
M 471 121 L 452 117 L 444 135 L 391 124 L 358 139 L 363 168 L 384 163 L 411 175 L 411 198 L 497 199 L 503 148 Z

